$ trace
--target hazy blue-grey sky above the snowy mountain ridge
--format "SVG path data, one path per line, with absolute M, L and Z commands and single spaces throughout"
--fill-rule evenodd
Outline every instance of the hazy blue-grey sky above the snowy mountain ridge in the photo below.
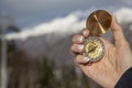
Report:
M 132 7 L 131 0 L 0 0 L 0 14 L 9 14 L 15 18 L 20 28 L 34 26 L 36 24 L 63 18 L 78 11 L 95 9 L 118 9 Z

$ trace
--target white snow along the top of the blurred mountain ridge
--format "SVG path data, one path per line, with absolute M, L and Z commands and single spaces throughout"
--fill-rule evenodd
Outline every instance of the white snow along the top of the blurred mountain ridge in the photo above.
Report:
M 132 22 L 132 9 L 121 8 L 113 12 L 118 21 L 121 22 Z M 64 18 L 56 18 L 51 22 L 42 23 L 33 28 L 26 28 L 20 33 L 11 33 L 6 37 L 7 40 L 26 40 L 32 36 L 40 36 L 50 33 L 64 33 L 67 35 L 69 33 L 75 33 L 80 31 L 86 25 L 86 15 L 89 14 L 87 11 L 76 11 L 69 13 Z

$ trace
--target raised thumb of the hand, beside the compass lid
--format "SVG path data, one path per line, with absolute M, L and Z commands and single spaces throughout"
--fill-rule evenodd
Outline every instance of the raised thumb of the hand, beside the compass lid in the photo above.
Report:
M 119 23 L 117 22 L 113 15 L 112 15 L 111 31 L 114 37 L 116 46 L 123 45 L 127 42 L 124 34 L 123 34 L 123 30 L 119 25 Z

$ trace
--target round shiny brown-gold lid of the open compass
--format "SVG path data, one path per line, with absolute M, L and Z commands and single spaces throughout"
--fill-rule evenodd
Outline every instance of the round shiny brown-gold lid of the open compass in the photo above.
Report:
M 109 30 L 111 22 L 112 16 L 109 12 L 97 10 L 88 16 L 86 26 L 91 35 L 101 35 Z

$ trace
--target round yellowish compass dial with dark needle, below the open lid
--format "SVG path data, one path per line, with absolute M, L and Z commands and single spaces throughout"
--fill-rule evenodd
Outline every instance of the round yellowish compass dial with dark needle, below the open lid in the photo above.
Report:
M 97 36 L 89 36 L 85 41 L 85 52 L 90 62 L 98 62 L 103 56 L 105 45 Z

